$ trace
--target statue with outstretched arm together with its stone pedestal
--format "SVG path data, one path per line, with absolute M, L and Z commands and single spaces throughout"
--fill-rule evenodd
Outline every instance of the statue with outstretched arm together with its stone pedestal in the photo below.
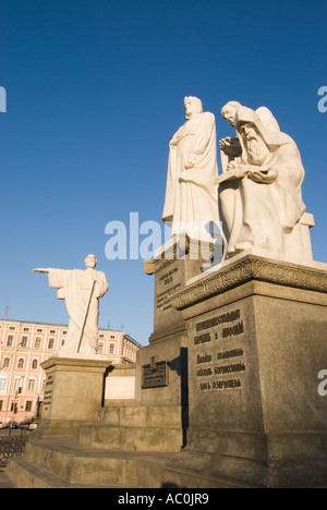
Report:
M 88 255 L 85 270 L 37 268 L 48 275 L 58 299 L 65 300 L 69 329 L 60 351 L 41 366 L 46 389 L 39 435 L 75 435 L 77 426 L 94 421 L 104 397 L 104 375 L 111 362 L 97 354 L 99 299 L 108 291 L 106 275 L 95 270 Z

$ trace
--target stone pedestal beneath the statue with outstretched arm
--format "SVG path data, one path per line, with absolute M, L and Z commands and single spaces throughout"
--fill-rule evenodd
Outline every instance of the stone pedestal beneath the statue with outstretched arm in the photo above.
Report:
M 38 437 L 73 436 L 78 426 L 94 423 L 104 401 L 106 360 L 52 356 L 41 364 L 46 372 L 43 417 Z

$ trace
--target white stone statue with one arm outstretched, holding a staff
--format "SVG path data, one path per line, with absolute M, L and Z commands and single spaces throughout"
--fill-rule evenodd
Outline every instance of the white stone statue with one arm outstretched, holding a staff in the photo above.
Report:
M 58 299 L 65 300 L 70 316 L 65 342 L 59 355 L 76 354 L 94 357 L 98 341 L 98 300 L 108 291 L 105 272 L 96 271 L 97 259 L 88 255 L 85 270 L 73 269 L 33 269 L 34 272 L 47 272 L 49 286 L 58 289 Z

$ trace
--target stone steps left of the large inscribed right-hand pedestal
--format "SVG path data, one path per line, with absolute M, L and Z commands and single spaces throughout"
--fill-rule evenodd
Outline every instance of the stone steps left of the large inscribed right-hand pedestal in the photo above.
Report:
M 100 423 L 80 424 L 74 434 L 63 427 L 61 437 L 31 436 L 25 456 L 9 462 L 9 479 L 17 488 L 160 486 L 182 448 L 181 408 L 112 405 L 98 415 Z

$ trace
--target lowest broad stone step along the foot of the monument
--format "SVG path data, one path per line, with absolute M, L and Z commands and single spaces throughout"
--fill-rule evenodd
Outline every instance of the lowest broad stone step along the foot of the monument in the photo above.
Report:
M 31 441 L 24 457 L 9 462 L 7 476 L 16 488 L 242 487 L 187 464 L 183 453 L 109 452 L 61 438 Z

